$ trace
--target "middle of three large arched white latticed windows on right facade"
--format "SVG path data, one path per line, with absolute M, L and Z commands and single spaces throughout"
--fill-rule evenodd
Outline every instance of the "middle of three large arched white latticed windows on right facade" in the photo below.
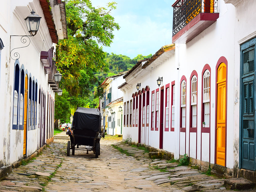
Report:
M 191 79 L 191 106 L 192 106 L 192 127 L 196 127 L 196 105 L 197 105 L 197 78 L 194 75 Z

